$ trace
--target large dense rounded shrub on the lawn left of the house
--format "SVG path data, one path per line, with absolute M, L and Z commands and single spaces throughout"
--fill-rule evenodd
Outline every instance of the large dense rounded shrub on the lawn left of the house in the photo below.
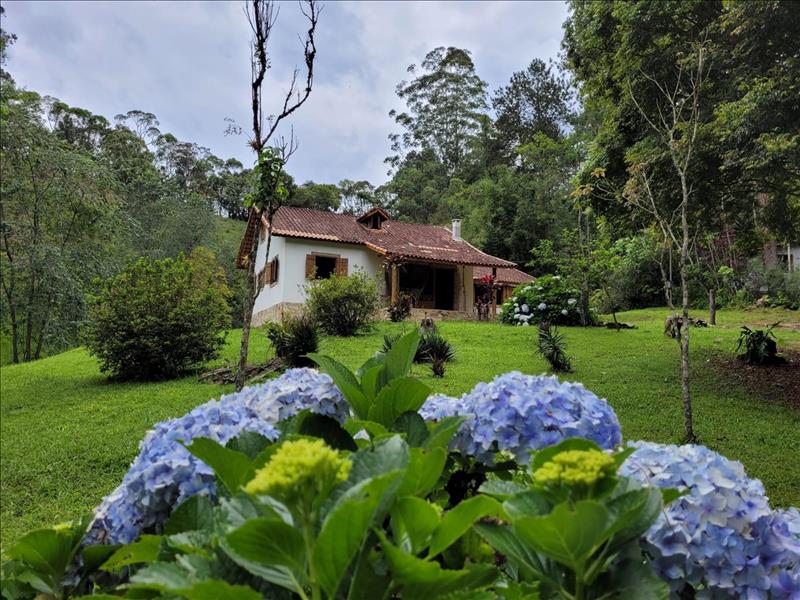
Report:
M 167 379 L 215 358 L 230 324 L 225 272 L 205 248 L 140 258 L 90 298 L 89 351 L 119 379 Z

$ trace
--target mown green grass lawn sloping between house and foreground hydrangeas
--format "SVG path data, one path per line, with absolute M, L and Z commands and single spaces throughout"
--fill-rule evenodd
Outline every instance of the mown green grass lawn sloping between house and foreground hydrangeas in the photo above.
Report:
M 564 328 L 580 381 L 613 405 L 626 439 L 679 442 L 682 410 L 678 349 L 663 333 L 665 309 L 631 311 L 620 319 L 637 326 L 614 332 Z M 759 477 L 774 505 L 800 506 L 800 409 L 758 390 L 742 389 L 711 367 L 715 354 L 730 354 L 742 323 L 784 323 L 797 313 L 721 311 L 715 328 L 692 330 L 695 429 L 702 443 L 744 463 Z M 381 323 L 368 335 L 327 338 L 322 351 L 355 368 L 389 331 L 411 323 Z M 444 379 L 427 367 L 415 372 L 435 391 L 460 394 L 475 383 L 520 370 L 546 370 L 533 351 L 533 327 L 495 323 L 443 323 L 457 359 Z M 779 348 L 800 350 L 800 330 L 777 330 Z M 232 331 L 220 364 L 233 362 L 239 332 Z M 256 332 L 251 359 L 267 354 Z M 800 386 L 800 381 L 797 382 Z M 83 349 L 0 370 L 0 541 L 26 530 L 90 511 L 121 480 L 139 440 L 157 421 L 180 416 L 231 386 L 201 384 L 194 377 L 165 383 L 109 383 Z

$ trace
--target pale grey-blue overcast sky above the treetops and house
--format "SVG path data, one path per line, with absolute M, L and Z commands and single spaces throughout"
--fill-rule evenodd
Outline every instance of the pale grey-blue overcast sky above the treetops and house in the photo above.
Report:
M 6 2 L 15 33 L 8 71 L 17 83 L 113 118 L 155 113 L 163 132 L 222 158 L 253 162 L 246 136 L 226 137 L 226 117 L 250 122 L 249 27 L 241 2 Z M 314 89 L 293 115 L 298 181 L 386 180 L 388 112 L 409 64 L 437 46 L 472 51 L 490 90 L 532 58 L 555 58 L 561 2 L 325 2 Z M 265 96 L 277 101 L 302 64 L 298 5 L 280 5 Z

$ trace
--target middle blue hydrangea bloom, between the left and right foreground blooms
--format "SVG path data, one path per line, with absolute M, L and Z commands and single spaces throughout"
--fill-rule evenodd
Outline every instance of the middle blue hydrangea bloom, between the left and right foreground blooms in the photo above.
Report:
M 579 383 L 512 371 L 451 398 L 431 396 L 420 409 L 426 419 L 463 416 L 452 447 L 484 463 L 497 451 L 530 461 L 530 451 L 568 437 L 585 437 L 603 448 L 622 442 L 614 409 Z

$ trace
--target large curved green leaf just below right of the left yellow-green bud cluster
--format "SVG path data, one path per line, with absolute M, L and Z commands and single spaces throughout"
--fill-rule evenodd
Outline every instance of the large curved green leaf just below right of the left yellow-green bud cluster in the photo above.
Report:
M 370 527 L 377 522 L 384 495 L 402 475 L 392 471 L 353 486 L 328 512 L 314 544 L 312 562 L 322 588 L 334 596 Z

